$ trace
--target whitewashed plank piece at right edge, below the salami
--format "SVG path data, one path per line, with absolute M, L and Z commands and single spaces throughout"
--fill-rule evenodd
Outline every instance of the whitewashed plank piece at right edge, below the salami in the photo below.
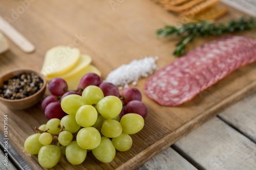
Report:
M 256 143 L 256 93 L 224 110 L 219 117 Z

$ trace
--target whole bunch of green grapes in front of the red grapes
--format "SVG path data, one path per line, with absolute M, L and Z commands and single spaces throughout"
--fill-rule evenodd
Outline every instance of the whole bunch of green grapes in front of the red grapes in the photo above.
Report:
M 64 96 L 60 105 L 67 115 L 49 119 L 35 128 L 37 133 L 25 140 L 25 150 L 38 155 L 42 167 L 54 167 L 61 155 L 65 155 L 71 164 L 81 164 L 86 160 L 87 152 L 92 152 L 99 161 L 109 163 L 116 152 L 125 152 L 132 147 L 131 135 L 143 129 L 146 113 L 143 111 L 142 116 L 136 109 L 125 112 L 125 107 L 130 101 L 141 102 L 138 90 L 130 89 L 135 91 L 134 96 L 129 96 L 133 94 L 127 93 L 129 89 L 122 95 L 119 92 L 106 95 L 106 90 L 100 87 L 88 85 L 80 90 L 81 95 L 70 93 Z M 133 110 L 132 106 L 127 107 Z M 140 105 L 136 107 L 140 108 Z

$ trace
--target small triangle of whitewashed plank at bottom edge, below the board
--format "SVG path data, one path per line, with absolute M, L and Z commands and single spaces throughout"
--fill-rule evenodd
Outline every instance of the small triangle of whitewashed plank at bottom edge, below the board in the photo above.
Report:
M 169 169 L 179 169 L 179 170 L 196 170 L 193 165 L 191 165 L 186 159 L 180 156 L 172 148 L 167 148 L 163 152 L 159 153 L 155 157 L 151 158 L 143 165 L 141 165 L 137 170 L 169 170 Z

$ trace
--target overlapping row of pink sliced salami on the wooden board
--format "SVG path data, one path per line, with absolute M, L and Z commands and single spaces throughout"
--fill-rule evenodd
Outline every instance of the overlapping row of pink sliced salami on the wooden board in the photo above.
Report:
M 254 61 L 256 40 L 225 36 L 195 48 L 158 70 L 147 80 L 144 92 L 160 105 L 177 106 Z

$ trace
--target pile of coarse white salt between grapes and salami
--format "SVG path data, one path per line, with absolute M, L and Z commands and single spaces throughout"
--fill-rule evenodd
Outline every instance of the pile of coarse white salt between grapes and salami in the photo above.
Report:
M 148 77 L 158 69 L 156 60 L 158 57 L 145 57 L 123 64 L 111 71 L 105 81 L 115 84 L 119 89 L 128 88 L 130 83 L 135 86 L 140 78 Z

